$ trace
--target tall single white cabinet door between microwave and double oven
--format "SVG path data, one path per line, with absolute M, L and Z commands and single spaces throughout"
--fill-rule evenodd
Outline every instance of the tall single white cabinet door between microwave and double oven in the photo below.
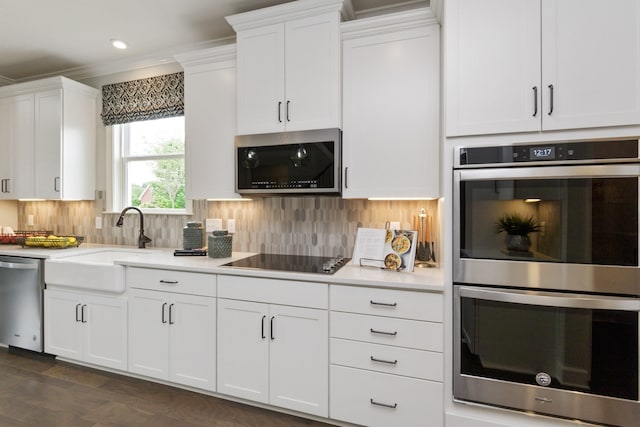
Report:
M 436 25 L 344 42 L 343 197 L 439 196 L 439 52 Z

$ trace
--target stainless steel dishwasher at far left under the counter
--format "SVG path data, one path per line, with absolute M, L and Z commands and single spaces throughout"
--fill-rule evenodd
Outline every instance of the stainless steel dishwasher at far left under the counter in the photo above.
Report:
M 44 260 L 0 256 L 0 343 L 42 352 Z

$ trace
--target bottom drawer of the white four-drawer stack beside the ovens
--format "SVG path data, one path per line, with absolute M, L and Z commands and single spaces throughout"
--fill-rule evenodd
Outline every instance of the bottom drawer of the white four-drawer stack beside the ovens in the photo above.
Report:
M 438 427 L 442 393 L 442 383 L 332 365 L 329 416 L 370 427 Z

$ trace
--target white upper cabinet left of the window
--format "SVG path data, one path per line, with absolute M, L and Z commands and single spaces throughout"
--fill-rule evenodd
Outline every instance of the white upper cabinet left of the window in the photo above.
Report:
M 11 100 L 8 145 L 13 162 L 11 176 L 2 177 L 9 179 L 3 198 L 95 197 L 97 94 L 64 77 L 0 88 L 0 97 Z

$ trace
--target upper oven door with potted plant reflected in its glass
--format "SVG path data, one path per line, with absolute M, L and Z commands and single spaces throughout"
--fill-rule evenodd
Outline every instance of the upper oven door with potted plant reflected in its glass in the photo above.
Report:
M 455 280 L 640 294 L 639 176 L 638 164 L 455 171 Z M 499 231 L 514 216 L 537 228 Z

